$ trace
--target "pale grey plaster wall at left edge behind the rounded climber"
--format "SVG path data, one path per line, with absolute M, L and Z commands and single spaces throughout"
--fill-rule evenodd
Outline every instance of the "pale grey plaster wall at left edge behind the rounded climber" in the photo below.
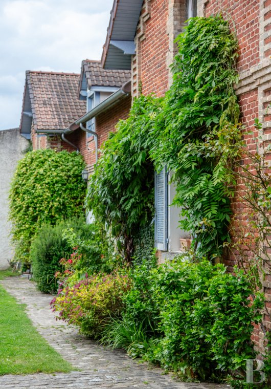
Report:
M 24 157 L 22 152 L 28 145 L 18 128 L 0 131 L 0 270 L 9 267 L 8 260 L 13 256 L 8 221 L 9 188 L 17 162 Z

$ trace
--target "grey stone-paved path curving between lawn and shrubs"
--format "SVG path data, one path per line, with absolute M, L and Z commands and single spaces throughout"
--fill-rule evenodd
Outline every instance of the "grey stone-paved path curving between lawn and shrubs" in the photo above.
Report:
M 38 292 L 34 282 L 11 277 L 1 284 L 19 303 L 26 304 L 26 312 L 38 332 L 81 371 L 0 376 L 0 389 L 229 389 L 228 385 L 179 382 L 171 375 L 163 374 L 161 369 L 149 368 L 146 363 L 128 358 L 121 350 L 105 349 L 80 335 L 76 328 L 56 321 L 49 306 L 52 296 Z

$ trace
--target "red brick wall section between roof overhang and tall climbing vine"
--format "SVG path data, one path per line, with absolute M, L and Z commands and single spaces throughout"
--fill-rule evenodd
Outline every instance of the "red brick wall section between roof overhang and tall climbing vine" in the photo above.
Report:
M 163 96 L 172 77 L 169 66 L 176 53 L 174 39 L 187 19 L 186 0 L 144 0 L 132 58 L 132 95 Z

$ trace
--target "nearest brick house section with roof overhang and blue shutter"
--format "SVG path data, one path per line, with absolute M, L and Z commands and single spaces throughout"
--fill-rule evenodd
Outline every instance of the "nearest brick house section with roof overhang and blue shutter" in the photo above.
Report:
M 271 0 L 114 0 L 107 37 L 102 54 L 105 69 L 131 69 L 132 97 L 140 93 L 163 96 L 169 89 L 172 76 L 169 69 L 176 47 L 174 38 L 192 16 L 221 13 L 236 30 L 239 43 L 237 70 L 240 82 L 236 89 L 241 121 L 253 135 L 246 144 L 255 150 L 254 137 L 271 139 L 271 116 L 268 104 L 271 96 Z M 261 133 L 254 127 L 254 118 L 263 123 Z M 237 192 L 242 188 L 237 187 Z M 170 207 L 174 187 L 167 184 L 166 172 L 156 175 L 155 245 L 160 260 L 180 250 L 179 239 L 186 234 L 177 228 L 179 210 Z M 157 198 L 160 199 L 157 207 Z M 161 201 L 162 199 L 162 201 Z M 240 203 L 232 204 L 238 215 Z M 225 258 L 231 271 L 234 257 Z M 271 275 L 266 275 L 264 292 L 271 311 Z M 268 317 L 266 318 L 268 320 Z M 267 328 L 271 323 L 265 321 Z M 260 346 L 263 334 L 256 329 L 254 340 Z

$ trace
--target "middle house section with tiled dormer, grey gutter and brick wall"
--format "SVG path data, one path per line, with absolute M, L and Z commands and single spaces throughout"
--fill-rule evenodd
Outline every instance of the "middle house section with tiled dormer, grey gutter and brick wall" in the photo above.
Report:
M 120 119 L 131 107 L 129 70 L 105 70 L 100 61 L 83 60 L 78 98 L 84 101 L 84 115 L 77 117 L 64 131 L 83 155 L 88 172 L 98 158 L 99 149 Z

